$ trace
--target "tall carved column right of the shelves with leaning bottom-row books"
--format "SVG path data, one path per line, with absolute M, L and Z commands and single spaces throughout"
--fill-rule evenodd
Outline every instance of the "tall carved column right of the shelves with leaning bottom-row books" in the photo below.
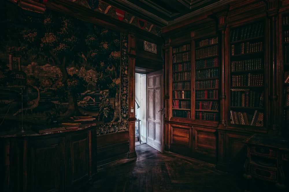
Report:
M 265 0 L 267 3 L 267 15 L 268 15 L 268 48 L 270 59 L 268 59 L 269 65 L 269 85 L 270 85 L 270 93 L 269 93 L 269 113 L 268 113 L 268 133 L 272 135 L 278 134 L 278 111 L 277 111 L 277 55 L 276 55 L 276 17 L 279 12 L 279 0 Z

